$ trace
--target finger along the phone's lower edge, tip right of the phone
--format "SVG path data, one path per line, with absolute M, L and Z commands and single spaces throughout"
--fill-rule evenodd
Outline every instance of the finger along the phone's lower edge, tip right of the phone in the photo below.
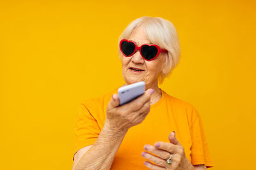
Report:
M 143 104 L 150 100 L 150 97 L 153 94 L 153 92 L 153 89 L 148 89 L 143 95 L 141 95 L 137 99 L 134 99 L 130 103 L 127 103 L 128 108 L 130 108 L 133 111 L 140 110 Z

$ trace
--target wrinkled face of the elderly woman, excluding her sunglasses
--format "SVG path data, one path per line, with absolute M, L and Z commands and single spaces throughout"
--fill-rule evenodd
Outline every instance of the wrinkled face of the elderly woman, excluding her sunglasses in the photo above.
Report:
M 137 27 L 128 40 L 134 41 L 137 46 L 152 44 L 143 30 L 143 25 Z M 150 61 L 144 60 L 139 51 L 131 57 L 122 55 L 122 73 L 125 82 L 131 84 L 145 81 L 147 88 L 157 85 L 157 76 L 163 70 L 165 59 L 166 53 L 159 53 L 156 59 Z

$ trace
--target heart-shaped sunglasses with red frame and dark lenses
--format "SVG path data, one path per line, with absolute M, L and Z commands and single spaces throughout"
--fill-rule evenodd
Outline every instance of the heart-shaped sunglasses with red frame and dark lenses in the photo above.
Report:
M 161 49 L 158 45 L 144 44 L 137 46 L 133 41 L 128 41 L 127 39 L 122 39 L 119 47 L 125 57 L 130 57 L 139 50 L 143 59 L 148 61 L 156 59 L 161 52 L 167 52 L 167 50 Z

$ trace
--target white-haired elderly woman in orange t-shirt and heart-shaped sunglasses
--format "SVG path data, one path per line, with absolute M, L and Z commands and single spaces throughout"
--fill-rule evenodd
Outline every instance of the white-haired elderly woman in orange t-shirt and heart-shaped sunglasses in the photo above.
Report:
M 73 169 L 212 167 L 198 111 L 158 87 L 179 62 L 173 24 L 134 20 L 122 32 L 118 52 L 125 85 L 145 81 L 145 94 L 120 106 L 116 88 L 80 105 Z

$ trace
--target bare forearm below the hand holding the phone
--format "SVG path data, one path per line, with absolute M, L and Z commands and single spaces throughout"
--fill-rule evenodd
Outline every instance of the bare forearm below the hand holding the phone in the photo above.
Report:
M 109 169 L 126 132 L 109 129 L 106 123 L 95 143 L 79 159 L 74 169 Z

